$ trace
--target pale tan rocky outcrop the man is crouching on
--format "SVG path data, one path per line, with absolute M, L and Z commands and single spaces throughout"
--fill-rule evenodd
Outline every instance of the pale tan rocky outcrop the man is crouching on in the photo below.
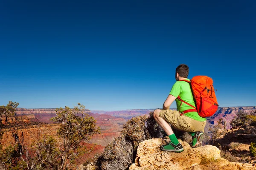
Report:
M 168 141 L 167 141 L 168 142 Z M 166 139 L 150 139 L 140 143 L 135 163 L 129 170 L 256 170 L 253 164 L 241 164 L 222 159 L 220 150 L 212 145 L 192 148 L 180 141 L 181 153 L 160 150 Z

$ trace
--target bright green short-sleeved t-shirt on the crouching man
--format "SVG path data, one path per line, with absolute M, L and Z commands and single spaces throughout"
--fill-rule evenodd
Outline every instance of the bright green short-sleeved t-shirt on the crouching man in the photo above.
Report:
M 170 91 L 170 94 L 172 96 L 175 96 L 176 98 L 177 96 L 180 96 L 182 100 L 184 100 L 185 102 L 188 102 L 192 106 L 195 106 L 195 101 L 193 99 L 192 91 L 188 82 L 185 82 L 185 81 L 175 82 L 175 84 L 172 86 L 172 90 Z M 175 101 L 177 104 L 177 111 L 183 112 L 188 109 L 194 109 L 184 102 L 182 102 L 182 105 L 181 105 L 181 101 L 178 99 L 175 99 Z M 206 118 L 199 116 L 197 112 L 189 112 L 184 115 L 201 122 L 206 120 Z

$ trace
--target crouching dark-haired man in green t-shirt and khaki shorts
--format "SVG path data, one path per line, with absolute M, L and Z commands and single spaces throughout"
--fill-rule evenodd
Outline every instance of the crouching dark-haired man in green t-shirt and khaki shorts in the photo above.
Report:
M 192 95 L 190 84 L 185 81 L 189 75 L 189 67 L 185 64 L 181 64 L 176 68 L 175 79 L 176 82 L 172 86 L 172 90 L 169 93 L 166 101 L 163 103 L 163 109 L 156 109 L 154 111 L 154 119 L 163 128 L 166 134 L 169 136 L 171 142 L 160 147 L 163 151 L 182 152 L 183 147 L 178 142 L 177 137 L 172 131 L 172 127 L 177 130 L 189 132 L 192 136 L 191 147 L 201 146 L 201 135 L 203 135 L 204 127 L 206 125 L 206 119 L 199 116 L 195 108 L 181 102 L 177 99 L 180 96 L 185 102 L 195 106 L 195 101 Z M 170 110 L 170 105 L 173 101 L 176 101 L 177 111 Z M 185 113 L 184 113 L 185 112 Z M 170 126 L 170 125 L 171 126 Z

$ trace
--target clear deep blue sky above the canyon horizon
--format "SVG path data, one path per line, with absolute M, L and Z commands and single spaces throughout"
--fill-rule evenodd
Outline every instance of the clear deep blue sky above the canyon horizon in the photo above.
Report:
M 185 63 L 189 78 L 212 77 L 220 106 L 255 106 L 255 9 L 255 0 L 2 1 L 0 105 L 161 108 Z

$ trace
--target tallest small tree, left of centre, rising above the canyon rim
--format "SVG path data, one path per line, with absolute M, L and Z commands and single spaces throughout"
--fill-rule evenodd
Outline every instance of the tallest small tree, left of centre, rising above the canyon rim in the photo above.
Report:
M 57 133 L 63 139 L 61 143 L 61 165 L 58 169 L 67 167 L 67 160 L 75 159 L 81 152 L 79 151 L 82 140 L 89 140 L 95 133 L 99 133 L 96 127 L 96 120 L 85 114 L 84 105 L 78 103 L 74 108 L 57 108 L 56 115 L 51 120 L 61 123 Z M 80 114 L 80 116 L 77 116 Z

